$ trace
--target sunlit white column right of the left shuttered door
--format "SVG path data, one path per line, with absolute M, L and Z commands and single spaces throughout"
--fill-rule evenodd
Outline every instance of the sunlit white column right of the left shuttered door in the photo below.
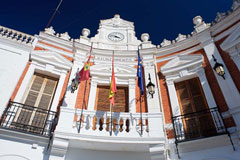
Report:
M 65 81 L 65 78 L 66 78 L 66 74 L 67 74 L 67 71 L 62 71 L 61 74 L 60 74 L 57 89 L 56 89 L 54 99 L 53 99 L 53 102 L 52 102 L 52 107 L 51 107 L 52 111 L 57 110 L 57 105 L 58 105 L 59 98 L 60 98 L 61 93 L 62 93 L 62 89 L 63 89 L 64 81 Z

